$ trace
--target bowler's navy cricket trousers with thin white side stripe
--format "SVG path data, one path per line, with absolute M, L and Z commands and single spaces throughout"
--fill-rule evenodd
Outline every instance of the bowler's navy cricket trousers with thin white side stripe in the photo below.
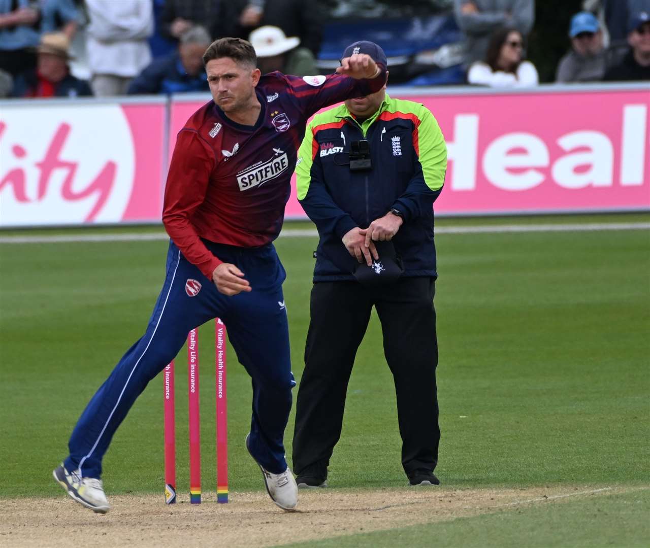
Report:
M 68 470 L 99 478 L 110 440 L 136 398 L 172 361 L 194 327 L 213 318 L 226 324 L 239 362 L 253 384 L 250 449 L 272 473 L 287 468 L 284 430 L 291 411 L 289 326 L 282 294 L 285 270 L 274 246 L 242 248 L 203 240 L 222 261 L 237 265 L 252 291 L 228 297 L 183 257 L 174 242 L 166 278 L 147 330 L 110 373 L 86 406 L 70 437 Z M 200 290 L 196 292 L 199 282 Z M 186 289 L 187 286 L 187 289 Z

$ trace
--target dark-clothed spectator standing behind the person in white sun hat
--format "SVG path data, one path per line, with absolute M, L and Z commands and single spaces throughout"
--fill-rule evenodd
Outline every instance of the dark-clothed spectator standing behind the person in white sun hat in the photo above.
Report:
M 278 27 L 285 36 L 298 36 L 302 47 L 318 56 L 323 15 L 315 0 L 235 0 L 233 8 L 235 13 L 224 12 L 224 18 L 237 21 L 224 28 L 227 36 L 246 38 L 259 27 Z

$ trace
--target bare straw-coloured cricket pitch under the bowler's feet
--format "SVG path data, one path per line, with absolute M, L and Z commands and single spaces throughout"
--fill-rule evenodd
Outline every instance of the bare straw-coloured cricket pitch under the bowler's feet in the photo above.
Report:
M 166 506 L 161 495 L 118 495 L 108 514 L 94 514 L 61 493 L 47 499 L 0 501 L 0 545 L 13 547 L 265 547 L 394 529 L 419 523 L 560 504 L 623 492 L 620 487 L 550 486 L 525 489 L 417 487 L 370 490 L 300 490 L 296 512 L 284 512 L 264 492 L 229 493 L 216 503 L 204 493 L 190 504 L 180 493 Z

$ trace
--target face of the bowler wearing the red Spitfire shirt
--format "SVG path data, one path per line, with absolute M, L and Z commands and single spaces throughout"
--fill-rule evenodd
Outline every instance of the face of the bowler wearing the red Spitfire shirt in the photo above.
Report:
M 260 72 L 247 64 L 238 64 L 230 57 L 207 62 L 207 81 L 216 103 L 224 112 L 245 108 L 255 94 Z

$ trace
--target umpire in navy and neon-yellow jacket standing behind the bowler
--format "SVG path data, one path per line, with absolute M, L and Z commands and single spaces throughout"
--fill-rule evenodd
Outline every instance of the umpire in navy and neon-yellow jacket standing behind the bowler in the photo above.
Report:
M 352 53 L 387 64 L 373 42 L 343 56 Z M 320 237 L 296 403 L 298 486 L 326 486 L 372 306 L 395 379 L 402 466 L 411 485 L 438 485 L 433 203 L 447 169 L 443 135 L 427 108 L 384 86 L 317 114 L 298 156 L 298 199 Z

